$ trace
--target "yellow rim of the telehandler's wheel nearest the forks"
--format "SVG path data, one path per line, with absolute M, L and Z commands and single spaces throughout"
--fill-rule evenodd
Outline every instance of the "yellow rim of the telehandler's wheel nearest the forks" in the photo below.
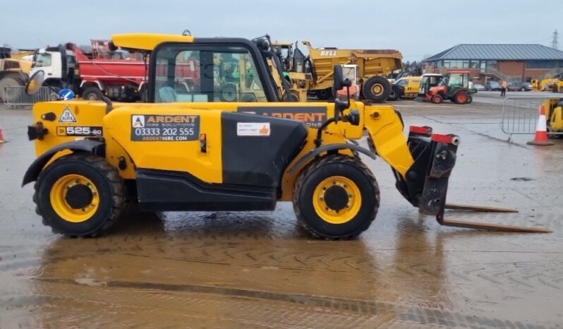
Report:
M 343 208 L 332 209 L 334 203 L 327 200 L 330 190 L 346 191 L 347 202 Z M 336 190 L 335 190 L 336 189 Z M 328 202 L 328 203 L 327 203 Z M 358 215 L 362 205 L 360 189 L 351 179 L 342 176 L 333 176 L 321 181 L 313 192 L 313 207 L 319 217 L 330 224 L 344 224 Z M 339 208 L 339 207 L 334 207 Z

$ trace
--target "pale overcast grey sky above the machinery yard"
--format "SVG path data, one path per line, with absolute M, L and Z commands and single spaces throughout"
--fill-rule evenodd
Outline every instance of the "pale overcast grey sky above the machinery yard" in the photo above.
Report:
M 90 44 L 114 33 L 191 30 L 200 37 L 309 40 L 315 47 L 400 50 L 420 60 L 459 43 L 563 49 L 563 1 L 2 1 L 0 44 Z M 301 47 L 303 48 L 303 47 Z

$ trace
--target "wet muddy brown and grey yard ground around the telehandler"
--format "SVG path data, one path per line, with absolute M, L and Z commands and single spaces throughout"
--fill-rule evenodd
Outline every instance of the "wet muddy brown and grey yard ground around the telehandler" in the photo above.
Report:
M 35 215 L 32 186 L 20 187 L 35 155 L 30 110 L 1 107 L 0 328 L 561 327 L 563 140 L 508 143 L 497 92 L 464 106 L 393 104 L 406 124 L 461 137 L 449 201 L 520 210 L 447 217 L 553 232 L 440 227 L 404 201 L 385 162 L 363 157 L 382 205 L 353 241 L 308 237 L 289 203 L 271 213 L 129 210 L 111 234 L 67 239 Z

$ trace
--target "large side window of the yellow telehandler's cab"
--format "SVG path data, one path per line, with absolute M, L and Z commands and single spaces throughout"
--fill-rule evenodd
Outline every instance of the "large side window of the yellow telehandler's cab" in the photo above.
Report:
M 267 102 L 253 56 L 239 46 L 161 47 L 155 88 L 155 102 Z

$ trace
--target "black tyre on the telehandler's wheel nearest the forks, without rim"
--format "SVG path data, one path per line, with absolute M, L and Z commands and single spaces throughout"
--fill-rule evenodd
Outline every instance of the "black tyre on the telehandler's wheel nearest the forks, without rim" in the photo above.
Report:
M 345 177 L 353 181 L 360 191 L 358 213 L 341 224 L 323 220 L 313 205 L 315 189 L 330 177 Z M 293 210 L 298 222 L 314 237 L 329 240 L 357 237 L 370 227 L 379 205 L 380 190 L 370 169 L 360 160 L 344 155 L 327 155 L 308 164 L 299 174 L 293 191 Z

